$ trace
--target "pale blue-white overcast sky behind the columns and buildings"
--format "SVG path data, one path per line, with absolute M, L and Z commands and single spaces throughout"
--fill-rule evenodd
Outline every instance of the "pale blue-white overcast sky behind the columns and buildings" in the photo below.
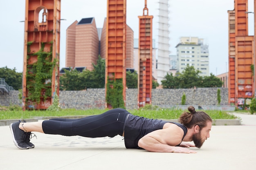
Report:
M 145 0 L 127 0 L 126 23 L 138 38 L 139 19 Z M 158 35 L 159 0 L 147 0 L 148 14 L 153 15 L 153 39 Z M 228 71 L 228 10 L 234 0 L 169 0 L 170 54 L 180 37 L 203 38 L 209 45 L 209 70 L 214 75 Z M 0 68 L 23 70 L 25 0 L 0 2 Z M 248 0 L 248 11 L 254 11 Z M 65 67 L 66 29 L 74 21 L 94 17 L 97 28 L 103 27 L 107 17 L 107 0 L 61 0 L 60 68 Z M 254 13 L 248 14 L 249 35 L 254 35 Z

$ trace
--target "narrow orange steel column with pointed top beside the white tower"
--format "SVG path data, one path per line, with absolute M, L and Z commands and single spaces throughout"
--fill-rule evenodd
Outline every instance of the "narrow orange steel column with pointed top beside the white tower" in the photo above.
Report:
M 146 14 L 145 14 L 146 12 Z M 138 73 L 138 108 L 151 104 L 152 89 L 152 20 L 148 15 L 147 1 L 143 16 L 139 17 L 139 73 Z

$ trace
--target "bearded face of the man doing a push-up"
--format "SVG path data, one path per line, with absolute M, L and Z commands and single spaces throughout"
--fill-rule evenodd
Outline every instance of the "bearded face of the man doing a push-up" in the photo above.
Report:
M 201 148 L 201 146 L 204 144 L 204 141 L 207 140 L 208 137 L 210 137 L 210 130 L 211 130 L 211 121 L 208 121 L 207 126 L 200 129 L 198 133 L 195 133 L 192 136 L 194 144 L 197 148 Z

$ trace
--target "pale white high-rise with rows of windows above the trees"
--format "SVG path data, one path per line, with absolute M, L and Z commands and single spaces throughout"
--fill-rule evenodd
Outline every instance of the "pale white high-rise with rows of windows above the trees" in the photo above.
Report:
M 182 72 L 187 65 L 201 71 L 201 76 L 209 76 L 209 49 L 203 39 L 181 37 L 177 49 L 177 72 Z

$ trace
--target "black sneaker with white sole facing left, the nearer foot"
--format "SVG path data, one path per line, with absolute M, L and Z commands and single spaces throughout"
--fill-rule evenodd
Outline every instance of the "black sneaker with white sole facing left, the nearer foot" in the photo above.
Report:
M 26 144 L 26 132 L 19 128 L 20 121 L 10 124 L 11 135 L 13 137 L 13 143 L 17 148 L 28 149 L 29 145 Z

